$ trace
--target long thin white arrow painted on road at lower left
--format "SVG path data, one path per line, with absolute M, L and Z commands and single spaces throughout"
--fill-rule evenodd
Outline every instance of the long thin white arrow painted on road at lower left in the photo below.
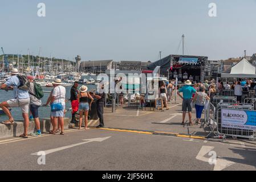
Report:
M 86 144 L 86 143 L 91 143 L 91 142 L 103 142 L 104 140 L 106 139 L 109 139 L 111 137 L 104 137 L 104 138 L 92 138 L 92 139 L 84 139 L 86 140 L 86 142 L 81 142 L 81 143 L 76 143 L 76 144 L 70 144 L 68 146 L 64 146 L 64 147 L 58 147 L 58 148 L 53 148 L 51 150 L 46 150 L 44 151 L 45 154 L 51 154 L 51 153 L 54 153 L 54 152 L 57 152 L 57 151 L 61 151 L 61 150 L 65 150 L 67 148 L 72 148 L 72 147 L 76 147 L 76 146 L 80 146 L 82 144 Z M 31 154 L 31 155 L 38 155 L 38 152 L 34 153 L 34 154 Z

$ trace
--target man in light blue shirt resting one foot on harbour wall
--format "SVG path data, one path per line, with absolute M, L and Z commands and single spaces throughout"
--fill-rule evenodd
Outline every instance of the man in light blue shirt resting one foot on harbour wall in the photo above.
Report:
M 9 120 L 2 122 L 5 125 L 13 125 L 14 124 L 14 118 L 10 113 L 10 110 L 8 107 L 20 107 L 22 110 L 22 117 L 24 118 L 24 133 L 19 136 L 23 138 L 27 138 L 27 129 L 29 127 L 29 103 L 30 103 L 30 96 L 29 92 L 27 90 L 21 90 L 18 88 L 19 85 L 21 85 L 21 82 L 19 81 L 18 75 L 18 69 L 13 68 L 11 69 L 11 77 L 1 85 L 1 89 L 13 89 L 14 91 L 14 99 L 11 99 L 9 101 L 4 101 L 0 104 L 0 107 L 5 112 L 7 117 L 9 117 Z

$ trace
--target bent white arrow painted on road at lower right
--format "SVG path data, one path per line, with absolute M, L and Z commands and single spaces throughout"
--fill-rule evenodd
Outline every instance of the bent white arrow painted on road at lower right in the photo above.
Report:
M 198 152 L 196 159 L 201 160 L 203 162 L 209 163 L 210 158 L 206 158 L 205 155 L 209 154 L 210 151 L 212 151 L 214 147 L 212 146 L 202 146 L 201 150 Z M 217 158 L 216 164 L 214 165 L 213 171 L 222 171 L 223 169 L 235 164 L 234 162 L 231 162 L 229 160 Z

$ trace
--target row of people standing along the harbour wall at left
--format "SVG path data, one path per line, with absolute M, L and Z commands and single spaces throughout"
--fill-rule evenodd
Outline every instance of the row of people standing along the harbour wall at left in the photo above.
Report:
M 36 93 L 34 77 L 21 76 L 18 73 L 18 69 L 11 69 L 11 77 L 1 85 L 3 90 L 13 90 L 13 99 L 3 101 L 0 104 L 1 109 L 5 112 L 9 118 L 7 121 L 2 122 L 5 125 L 13 125 L 14 118 L 9 110 L 10 107 L 20 107 L 22 111 L 22 117 L 24 119 L 24 133 L 19 137 L 28 138 L 29 129 L 29 114 L 31 113 L 34 118 L 36 132 L 31 135 L 41 135 L 40 121 L 39 121 L 39 107 L 48 106 L 51 107 L 50 119 L 52 124 L 52 130 L 50 134 L 64 135 L 64 115 L 66 114 L 66 88 L 62 86 L 62 80 L 56 78 L 52 85 L 54 88 L 51 90 L 50 96 L 47 99 L 46 104 L 42 105 L 42 97 L 38 97 Z M 85 129 L 88 129 L 88 111 L 91 109 L 92 102 L 96 101 L 97 115 L 100 119 L 100 124 L 97 128 L 104 127 L 103 111 L 105 94 L 87 92 L 88 88 L 82 85 L 78 89 L 78 82 L 75 82 L 71 88 L 71 106 L 72 106 L 72 119 L 71 123 L 79 123 L 79 130 L 82 129 L 83 115 L 85 117 Z M 101 89 L 104 89 L 104 84 L 101 83 Z M 75 114 L 79 111 L 79 121 L 76 121 Z

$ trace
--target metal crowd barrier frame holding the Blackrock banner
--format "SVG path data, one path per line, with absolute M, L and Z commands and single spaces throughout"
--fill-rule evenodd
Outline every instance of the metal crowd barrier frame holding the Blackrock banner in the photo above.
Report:
M 218 104 L 217 107 L 217 133 L 218 135 L 230 136 L 233 138 L 247 138 L 247 139 L 256 139 L 255 130 L 246 130 L 246 129 L 236 129 L 233 127 L 224 127 L 222 126 L 222 109 L 235 110 L 235 113 L 241 110 L 254 110 L 253 104 L 240 104 L 240 105 L 230 105 L 226 103 Z M 229 114 L 229 113 L 228 113 Z M 227 116 L 229 117 L 229 116 Z M 234 124 L 235 125 L 235 124 Z

